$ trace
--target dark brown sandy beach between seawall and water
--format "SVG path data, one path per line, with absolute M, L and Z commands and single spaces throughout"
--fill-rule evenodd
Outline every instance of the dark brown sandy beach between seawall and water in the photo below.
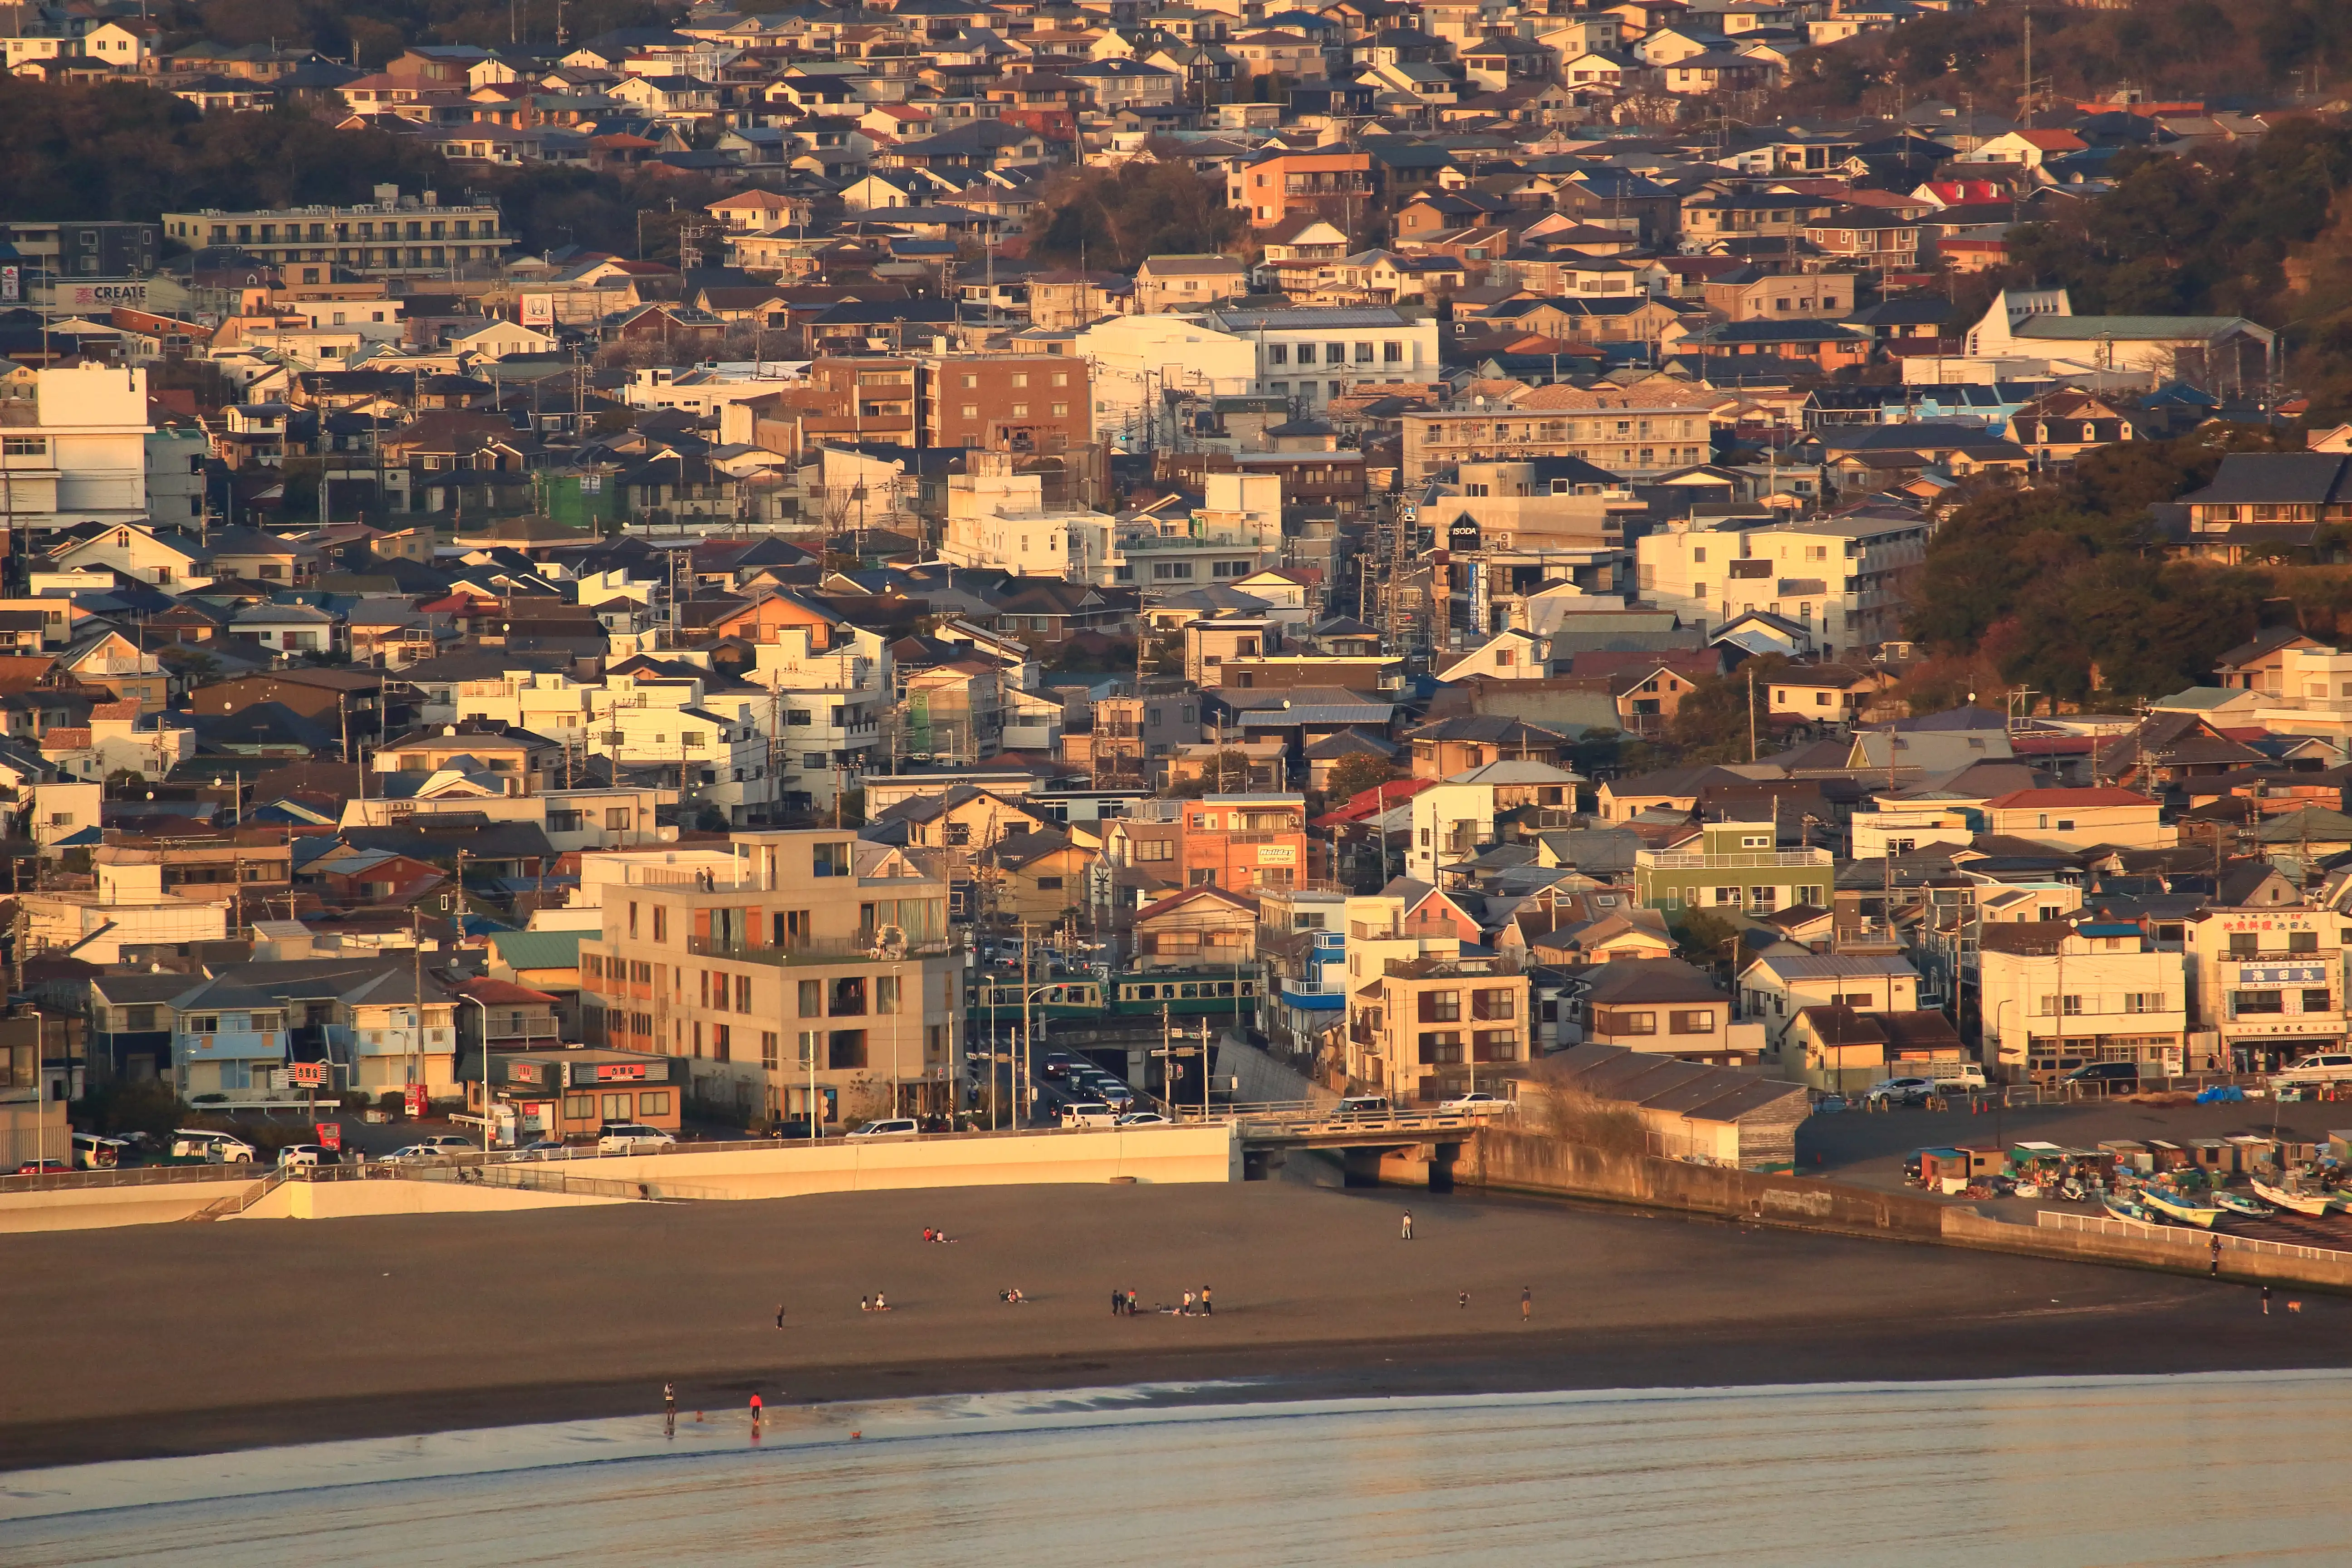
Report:
M 2265 1319 L 2241 1286 L 2129 1269 L 1298 1180 L 151 1225 L 5 1253 L 0 1469 L 619 1415 L 663 1380 L 691 1410 L 753 1389 L 1272 1380 L 1263 1399 L 2352 1356 L 2331 1298 Z M 1211 1286 L 1216 1314 L 1112 1316 L 1115 1286 L 1145 1312 Z M 875 1291 L 891 1312 L 858 1312 Z

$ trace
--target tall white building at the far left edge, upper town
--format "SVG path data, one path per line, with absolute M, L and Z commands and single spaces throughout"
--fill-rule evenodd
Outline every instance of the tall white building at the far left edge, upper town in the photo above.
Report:
M 148 433 L 146 369 L 33 371 L 33 397 L 0 400 L 0 510 L 9 527 L 47 534 L 143 522 Z

